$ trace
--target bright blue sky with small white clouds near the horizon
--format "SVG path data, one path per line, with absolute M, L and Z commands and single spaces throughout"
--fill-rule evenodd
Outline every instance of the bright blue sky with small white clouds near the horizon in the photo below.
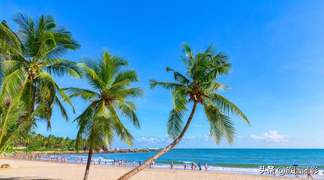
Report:
M 0 20 L 16 29 L 11 17 L 21 11 L 53 15 L 82 45 L 65 58 L 78 62 L 107 48 L 124 55 L 138 71 L 145 96 L 136 101 L 142 130 L 132 128 L 134 147 L 164 147 L 170 92 L 149 89 L 149 79 L 172 80 L 165 71 L 183 71 L 179 45 L 195 49 L 215 43 L 232 58 L 233 71 L 219 81 L 231 90 L 222 95 L 250 119 L 233 117 L 233 146 L 208 138 L 208 122 L 199 107 L 180 148 L 324 148 L 324 2 L 322 1 L 0 1 Z M 85 81 L 57 79 L 61 87 L 84 87 Z M 55 109 L 52 131 L 38 133 L 75 138 L 72 120 L 86 107 L 74 101 L 65 123 Z M 112 147 L 126 147 L 118 139 Z

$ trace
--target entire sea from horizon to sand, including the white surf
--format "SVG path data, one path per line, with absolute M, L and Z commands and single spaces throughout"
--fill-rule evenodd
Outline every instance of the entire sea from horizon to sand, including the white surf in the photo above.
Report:
M 104 161 L 111 165 L 112 159 L 127 159 L 129 164 L 144 162 L 156 152 L 136 152 L 136 153 L 100 153 L 94 154 L 93 160 L 101 165 Z M 57 156 L 57 155 L 54 155 Z M 88 154 L 62 155 L 69 157 L 69 161 L 75 163 L 75 158 L 83 158 L 87 162 Z M 200 162 L 205 169 L 208 163 L 210 171 L 234 172 L 247 174 L 260 174 L 260 166 L 275 165 L 279 166 L 318 166 L 319 173 L 314 175 L 316 178 L 324 178 L 324 149 L 172 149 L 164 156 L 155 161 L 154 168 L 168 169 L 170 162 L 174 162 L 174 169 L 183 169 L 184 162 L 187 162 L 187 170 L 191 168 L 191 162 Z M 132 165 L 129 165 L 132 166 Z M 294 175 L 285 175 L 294 176 Z M 301 177 L 305 175 L 300 175 Z M 307 176 L 307 175 L 306 175 Z

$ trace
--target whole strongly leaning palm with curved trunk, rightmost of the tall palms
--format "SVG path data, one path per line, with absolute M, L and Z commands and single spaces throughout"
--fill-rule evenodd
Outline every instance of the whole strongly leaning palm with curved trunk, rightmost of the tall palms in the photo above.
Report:
M 218 77 L 230 72 L 231 64 L 228 63 L 228 56 L 223 53 L 216 53 L 215 46 L 211 45 L 205 52 L 193 54 L 188 44 L 183 44 L 182 51 L 185 56 L 181 61 L 185 65 L 185 74 L 181 74 L 171 68 L 166 68 L 168 72 L 173 72 L 175 82 L 151 81 L 151 88 L 161 86 L 171 90 L 173 106 L 167 123 L 168 136 L 174 141 L 146 160 L 143 164 L 132 169 L 118 179 L 128 179 L 138 173 L 152 161 L 167 153 L 180 142 L 188 129 L 193 114 L 198 104 L 204 107 L 206 118 L 210 124 L 209 136 L 218 144 L 223 137 L 232 144 L 234 142 L 235 129 L 229 113 L 236 115 L 246 121 L 248 118 L 228 99 L 218 94 L 218 92 L 229 87 L 216 82 Z M 183 116 L 188 111 L 187 105 L 192 102 L 193 106 L 184 125 Z

